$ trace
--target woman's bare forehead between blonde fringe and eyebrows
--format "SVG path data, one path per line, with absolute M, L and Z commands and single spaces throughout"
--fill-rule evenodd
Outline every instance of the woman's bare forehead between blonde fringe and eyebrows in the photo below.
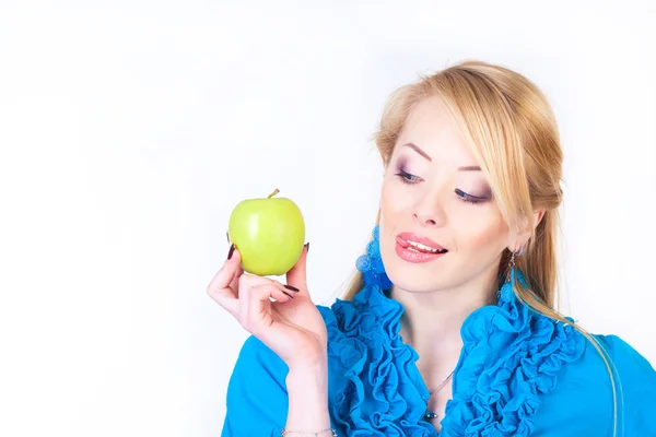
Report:
M 440 96 L 425 98 L 412 108 L 397 145 L 406 143 L 423 149 L 434 162 L 476 164 L 459 127 Z

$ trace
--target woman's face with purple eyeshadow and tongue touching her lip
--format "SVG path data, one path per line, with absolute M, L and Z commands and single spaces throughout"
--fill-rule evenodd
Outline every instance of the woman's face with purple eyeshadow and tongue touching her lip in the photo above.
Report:
M 383 181 L 380 253 L 401 290 L 496 284 L 508 228 L 465 144 L 440 97 L 418 104 L 398 139 Z

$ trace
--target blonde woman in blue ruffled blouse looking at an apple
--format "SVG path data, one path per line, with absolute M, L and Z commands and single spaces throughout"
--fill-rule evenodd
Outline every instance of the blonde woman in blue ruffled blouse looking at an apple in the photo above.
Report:
M 376 145 L 380 209 L 345 298 L 288 284 L 208 293 L 253 335 L 223 436 L 656 436 L 656 373 L 554 308 L 562 152 L 541 92 L 467 61 L 398 90 Z M 276 299 L 270 302 L 270 297 Z

